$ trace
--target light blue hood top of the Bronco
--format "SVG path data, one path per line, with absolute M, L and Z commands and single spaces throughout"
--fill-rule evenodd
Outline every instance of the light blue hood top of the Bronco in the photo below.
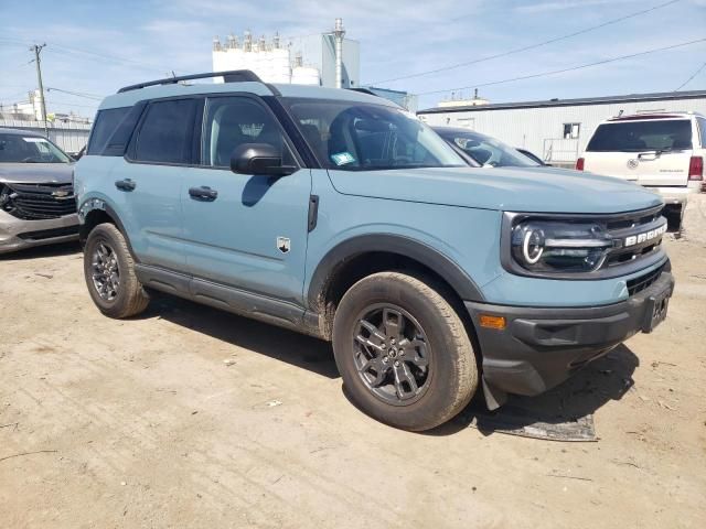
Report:
M 610 176 L 555 168 L 329 170 L 339 193 L 395 201 L 533 213 L 621 213 L 662 203 Z

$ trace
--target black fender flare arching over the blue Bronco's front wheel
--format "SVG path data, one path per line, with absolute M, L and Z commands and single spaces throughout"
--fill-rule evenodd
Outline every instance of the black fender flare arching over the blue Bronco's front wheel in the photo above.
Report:
M 416 239 L 394 234 L 371 234 L 352 237 L 334 246 L 321 259 L 314 270 L 307 293 L 307 303 L 315 312 L 321 295 L 347 260 L 370 251 L 396 253 L 408 257 L 438 273 L 463 301 L 484 301 L 483 294 L 471 277 L 451 258 Z

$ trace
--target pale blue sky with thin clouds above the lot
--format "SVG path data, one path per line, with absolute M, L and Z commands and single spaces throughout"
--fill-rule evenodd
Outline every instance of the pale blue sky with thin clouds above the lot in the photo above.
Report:
M 600 24 L 667 0 L 0 0 L 0 101 L 35 87 L 28 46 L 46 43 L 44 85 L 104 96 L 124 85 L 211 69 L 214 35 L 306 35 L 342 17 L 361 43 L 361 82 L 472 61 Z M 42 15 L 40 23 L 38 13 Z M 706 0 L 648 14 L 528 52 L 434 75 L 382 83 L 425 93 L 563 69 L 706 37 Z M 667 91 L 706 61 L 706 42 L 560 75 L 482 87 L 493 102 Z M 706 88 L 706 68 L 684 89 Z M 467 94 L 471 94 L 468 89 Z M 420 108 L 447 94 L 420 97 Z M 50 111 L 92 115 L 97 101 L 50 91 Z

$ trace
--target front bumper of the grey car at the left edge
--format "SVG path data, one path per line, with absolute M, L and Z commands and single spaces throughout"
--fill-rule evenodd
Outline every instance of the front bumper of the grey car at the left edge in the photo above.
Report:
M 78 217 L 23 220 L 0 210 L 0 253 L 78 239 Z

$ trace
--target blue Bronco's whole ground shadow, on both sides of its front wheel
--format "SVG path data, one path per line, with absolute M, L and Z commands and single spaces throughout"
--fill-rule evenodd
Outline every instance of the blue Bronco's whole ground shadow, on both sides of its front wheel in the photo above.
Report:
M 317 375 L 340 378 L 328 342 L 181 298 L 159 292 L 152 296 L 148 311 L 138 319 L 162 317 Z M 632 375 L 639 364 L 639 358 L 629 347 L 619 345 L 546 393 L 537 397 L 512 396 L 505 406 L 493 412 L 488 411 L 482 397 L 477 396 L 457 418 L 424 434 L 452 435 L 473 422 L 480 432 L 491 435 L 498 431 L 496 424 L 504 422 L 505 414 L 512 415 L 512 427 L 517 429 L 536 422 L 560 424 L 576 421 L 592 414 L 611 400 L 620 400 L 633 386 Z M 343 385 L 342 393 L 353 404 Z

